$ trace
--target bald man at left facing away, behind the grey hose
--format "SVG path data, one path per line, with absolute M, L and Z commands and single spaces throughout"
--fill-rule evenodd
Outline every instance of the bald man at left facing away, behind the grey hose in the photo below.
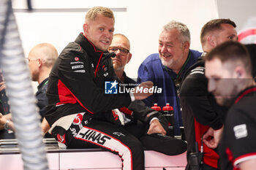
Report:
M 42 43 L 34 46 L 29 52 L 28 60 L 29 71 L 31 73 L 31 80 L 38 82 L 37 86 L 37 107 L 39 107 L 39 115 L 41 115 L 41 121 L 45 117 L 45 107 L 48 105 L 48 98 L 46 96 L 46 90 L 48 88 L 48 79 L 50 70 L 53 67 L 53 63 L 58 58 L 58 52 L 53 45 L 49 43 Z M 2 125 L 2 126 L 1 126 Z M 44 120 L 42 125 L 48 125 Z M 14 131 L 12 123 L 12 114 L 0 115 L 0 126 L 7 131 Z M 4 129 L 2 130 L 2 132 Z M 46 134 L 45 137 L 52 137 L 50 134 Z M 5 138 L 5 137 L 4 137 Z

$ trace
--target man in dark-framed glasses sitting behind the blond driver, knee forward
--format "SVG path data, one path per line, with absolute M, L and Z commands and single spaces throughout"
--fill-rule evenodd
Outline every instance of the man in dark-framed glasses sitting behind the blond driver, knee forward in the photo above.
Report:
M 136 86 L 135 80 L 127 77 L 127 74 L 124 72 L 124 67 L 132 58 L 132 53 L 130 53 L 129 50 L 130 43 L 127 36 L 124 36 L 123 34 L 115 34 L 110 47 L 108 47 L 108 51 L 116 53 L 116 56 L 112 58 L 113 69 L 117 77 L 125 85 L 124 88 L 134 88 Z M 158 116 L 148 124 L 144 121 L 146 118 L 138 120 L 134 117 L 138 117 L 137 115 L 146 117 L 149 112 L 155 112 L 155 110 L 146 107 L 143 101 L 133 101 L 132 104 L 134 105 L 134 103 L 138 104 L 138 107 L 136 107 L 136 109 L 135 106 L 132 107 L 134 111 L 132 116 L 123 114 L 126 120 L 124 128 L 127 131 L 140 139 L 146 149 L 163 152 L 166 155 L 177 155 L 181 152 L 185 152 L 187 148 L 185 142 L 162 135 L 165 134 L 165 131 L 167 130 L 167 120 L 162 113 L 159 112 Z M 156 135 L 155 133 L 159 135 Z

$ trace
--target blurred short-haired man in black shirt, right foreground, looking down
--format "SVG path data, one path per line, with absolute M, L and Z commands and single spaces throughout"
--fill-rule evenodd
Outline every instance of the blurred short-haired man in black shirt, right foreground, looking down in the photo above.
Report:
M 252 63 L 244 45 L 225 42 L 206 56 L 208 91 L 217 103 L 230 107 L 219 143 L 221 169 L 255 169 L 256 166 L 256 87 Z M 204 142 L 215 147 L 219 141 Z

